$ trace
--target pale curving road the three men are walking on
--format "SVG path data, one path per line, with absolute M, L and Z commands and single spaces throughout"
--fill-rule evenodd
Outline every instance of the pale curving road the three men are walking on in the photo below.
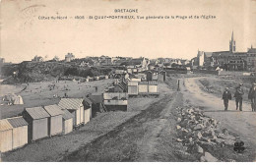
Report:
M 200 88 L 201 78 L 183 79 L 181 92 L 184 100 L 189 105 L 202 108 L 205 115 L 211 116 L 222 122 L 222 126 L 238 135 L 245 142 L 247 150 L 256 153 L 256 113 L 251 112 L 248 103 L 243 103 L 243 111 L 235 110 L 234 100 L 229 101 L 228 111 L 224 111 L 223 100 Z M 244 97 L 247 96 L 245 93 Z M 255 155 L 255 154 L 254 154 Z

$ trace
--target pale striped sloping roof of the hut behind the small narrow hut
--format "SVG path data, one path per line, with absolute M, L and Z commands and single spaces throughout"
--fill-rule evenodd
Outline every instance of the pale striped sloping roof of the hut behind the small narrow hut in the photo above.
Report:
M 82 98 L 61 98 L 59 106 L 62 109 L 79 109 L 82 102 Z

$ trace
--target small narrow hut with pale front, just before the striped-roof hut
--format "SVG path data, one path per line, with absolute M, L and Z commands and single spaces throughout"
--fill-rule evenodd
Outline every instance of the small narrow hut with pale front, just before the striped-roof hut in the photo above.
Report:
M 74 116 L 68 110 L 63 110 L 62 130 L 64 135 L 69 134 L 73 131 L 73 118 Z

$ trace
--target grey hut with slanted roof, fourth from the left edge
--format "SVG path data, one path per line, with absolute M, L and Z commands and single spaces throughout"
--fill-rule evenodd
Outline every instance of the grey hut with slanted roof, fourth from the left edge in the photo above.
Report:
M 47 105 L 43 107 L 45 111 L 50 115 L 48 121 L 48 135 L 49 137 L 62 134 L 62 114 L 61 108 L 54 105 Z

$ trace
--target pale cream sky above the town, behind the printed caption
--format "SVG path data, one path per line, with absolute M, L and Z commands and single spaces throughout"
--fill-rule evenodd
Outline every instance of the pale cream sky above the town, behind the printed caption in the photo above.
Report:
M 114 13 L 138 9 L 138 13 Z M 216 16 L 216 19 L 90 20 L 89 16 Z M 39 20 L 38 17 L 68 17 Z M 75 16 L 85 16 L 76 20 Z M 72 17 L 72 19 L 70 19 Z M 76 58 L 191 59 L 197 51 L 256 47 L 256 0 L 2 0 L 0 56 L 19 63 L 67 53 Z

